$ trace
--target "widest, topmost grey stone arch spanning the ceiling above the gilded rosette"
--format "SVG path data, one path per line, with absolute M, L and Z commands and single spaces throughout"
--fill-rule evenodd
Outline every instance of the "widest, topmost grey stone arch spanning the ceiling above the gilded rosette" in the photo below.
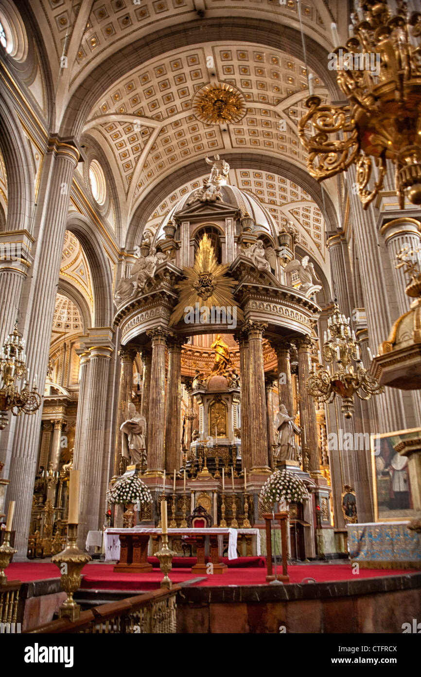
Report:
M 139 68 L 152 58 L 161 56 L 171 49 L 203 44 L 203 41 L 249 42 L 280 49 L 295 58 L 303 58 L 301 35 L 290 26 L 280 26 L 271 20 L 241 16 L 205 17 L 176 26 L 166 26 L 120 47 L 118 58 L 110 55 L 103 63 L 89 73 L 74 91 L 61 124 L 61 135 L 80 136 L 89 110 L 103 93 L 124 73 Z M 163 47 L 164 45 L 164 47 Z M 339 96 L 335 72 L 328 70 L 328 51 L 314 39 L 306 36 L 307 62 L 310 69 L 320 75 L 330 97 Z M 124 68 L 122 68 L 124 64 Z

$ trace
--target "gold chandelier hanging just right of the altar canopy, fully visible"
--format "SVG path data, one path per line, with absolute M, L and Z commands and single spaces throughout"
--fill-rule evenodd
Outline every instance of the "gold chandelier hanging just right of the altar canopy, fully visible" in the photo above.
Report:
M 339 395 L 343 401 L 341 410 L 345 418 L 351 418 L 353 414 L 355 394 L 360 399 L 370 399 L 372 395 L 383 392 L 383 387 L 362 366 L 355 332 L 351 332 L 349 318 L 339 312 L 337 303 L 328 318 L 328 330 L 324 332 L 323 357 L 328 363 L 327 368 L 320 365 L 317 369 L 313 367 L 305 385 L 310 395 L 319 402 L 330 403 L 335 395 Z M 362 395 L 360 390 L 366 394 Z

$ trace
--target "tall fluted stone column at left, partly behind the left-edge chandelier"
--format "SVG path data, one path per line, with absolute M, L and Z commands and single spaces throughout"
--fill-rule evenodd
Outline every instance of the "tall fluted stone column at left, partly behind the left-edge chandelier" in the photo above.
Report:
M 30 374 L 39 376 L 39 391 L 44 392 L 53 323 L 55 293 L 72 177 L 79 151 L 73 139 L 49 139 L 43 162 L 39 192 L 43 203 L 35 215 L 34 263 L 32 277 L 22 295 L 22 327 L 27 336 L 26 355 Z M 23 414 L 16 424 L 9 470 L 7 500 L 16 501 L 14 529 L 19 556 L 26 555 L 32 508 L 36 459 L 41 433 L 41 410 L 33 416 Z

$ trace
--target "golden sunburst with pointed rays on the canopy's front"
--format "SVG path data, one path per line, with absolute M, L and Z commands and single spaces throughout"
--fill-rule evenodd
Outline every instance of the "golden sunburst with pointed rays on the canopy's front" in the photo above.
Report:
M 186 312 L 186 307 L 232 308 L 237 307 L 237 319 L 243 321 L 243 312 L 234 299 L 232 290 L 237 282 L 226 275 L 228 264 L 218 263 L 210 238 L 205 234 L 199 242 L 195 265 L 184 268 L 186 280 L 176 285 L 180 294 L 171 315 L 170 324 L 177 324 Z

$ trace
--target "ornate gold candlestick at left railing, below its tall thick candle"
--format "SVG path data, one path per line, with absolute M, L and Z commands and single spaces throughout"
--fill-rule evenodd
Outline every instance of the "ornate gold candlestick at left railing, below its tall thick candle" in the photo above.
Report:
M 78 525 L 68 525 L 68 538 L 66 548 L 59 554 L 51 557 L 51 562 L 59 567 L 61 572 L 61 588 L 67 592 L 68 598 L 59 608 L 59 618 L 69 618 L 70 621 L 77 621 L 80 617 L 80 605 L 76 604 L 73 594 L 80 587 L 82 571 L 84 565 L 91 561 L 92 557 L 86 552 L 79 550 L 76 545 L 78 539 Z

